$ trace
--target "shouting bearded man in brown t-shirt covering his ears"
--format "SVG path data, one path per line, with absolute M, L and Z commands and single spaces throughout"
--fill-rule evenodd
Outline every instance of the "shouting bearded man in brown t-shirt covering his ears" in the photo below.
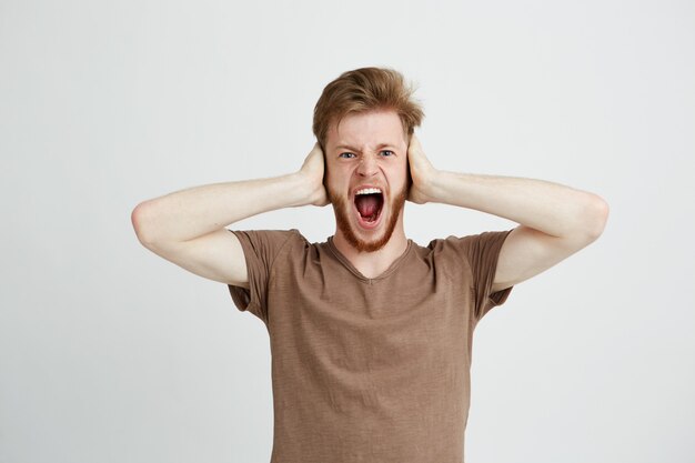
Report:
M 461 463 L 473 329 L 512 286 L 602 233 L 595 194 L 540 180 L 440 171 L 400 73 L 345 72 L 314 111 L 318 142 L 292 174 L 193 188 L 139 204 L 140 241 L 229 285 L 266 325 L 273 463 Z M 440 202 L 513 230 L 410 241 L 403 204 Z M 336 230 L 233 231 L 281 208 L 334 209 Z

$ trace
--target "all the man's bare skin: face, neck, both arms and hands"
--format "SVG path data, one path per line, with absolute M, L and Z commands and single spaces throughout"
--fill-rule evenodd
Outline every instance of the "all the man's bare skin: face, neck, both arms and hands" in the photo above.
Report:
M 381 222 L 372 230 L 360 227 L 352 209 L 354 189 L 366 184 L 382 188 L 385 200 Z M 243 250 L 225 227 L 282 208 L 323 207 L 332 199 L 334 244 L 364 276 L 374 278 L 405 251 L 403 209 L 395 201 L 404 188 L 407 200 L 419 204 L 474 209 L 518 223 L 501 249 L 493 291 L 525 281 L 588 245 L 608 217 L 606 202 L 586 191 L 435 169 L 417 138 L 404 135 L 394 112 L 372 111 L 331 127 L 326 152 L 315 143 L 298 172 L 173 192 L 138 204 L 131 220 L 140 242 L 158 255 L 210 280 L 248 288 Z M 362 245 L 379 241 L 384 242 L 371 252 Z

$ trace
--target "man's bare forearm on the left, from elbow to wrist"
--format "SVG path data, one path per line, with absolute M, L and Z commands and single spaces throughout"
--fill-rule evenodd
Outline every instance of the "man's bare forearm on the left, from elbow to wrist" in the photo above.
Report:
M 132 214 L 141 241 L 187 241 L 276 209 L 309 204 L 298 173 L 214 183 L 140 203 Z

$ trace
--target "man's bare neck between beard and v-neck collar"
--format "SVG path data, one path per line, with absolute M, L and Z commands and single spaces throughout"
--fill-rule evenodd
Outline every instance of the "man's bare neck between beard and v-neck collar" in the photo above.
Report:
M 333 244 L 365 278 L 379 276 L 403 255 L 407 249 L 407 239 L 403 230 L 403 218 L 400 218 L 389 242 L 379 251 L 364 252 L 356 250 L 345 240 L 340 229 L 335 231 Z

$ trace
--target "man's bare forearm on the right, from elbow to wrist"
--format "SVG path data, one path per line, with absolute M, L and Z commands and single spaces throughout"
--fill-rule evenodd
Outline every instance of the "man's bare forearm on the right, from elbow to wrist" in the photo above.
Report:
M 427 195 L 563 238 L 597 236 L 607 214 L 596 194 L 534 179 L 437 171 Z

